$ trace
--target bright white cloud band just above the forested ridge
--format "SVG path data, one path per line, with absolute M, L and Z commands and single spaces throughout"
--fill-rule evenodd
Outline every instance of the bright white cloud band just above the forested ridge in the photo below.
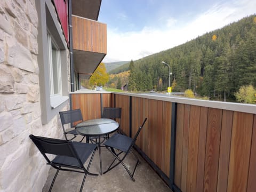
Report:
M 139 32 L 117 33 L 108 29 L 107 55 L 103 62 L 137 60 L 174 46 L 186 43 L 209 31 L 228 25 L 255 13 L 256 1 L 245 0 L 215 5 L 199 13 L 194 20 L 182 23 L 174 18 L 166 20 L 164 29 L 145 27 Z

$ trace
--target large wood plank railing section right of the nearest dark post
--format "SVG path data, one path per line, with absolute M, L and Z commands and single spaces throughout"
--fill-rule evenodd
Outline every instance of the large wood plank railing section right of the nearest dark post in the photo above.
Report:
M 255 191 L 255 146 L 255 114 L 178 103 L 174 183 L 181 191 Z

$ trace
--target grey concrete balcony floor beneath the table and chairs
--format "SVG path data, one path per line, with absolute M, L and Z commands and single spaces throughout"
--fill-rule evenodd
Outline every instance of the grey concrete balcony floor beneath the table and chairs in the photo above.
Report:
M 137 151 L 135 151 L 135 153 L 137 153 Z M 109 151 L 105 147 L 101 147 L 101 154 L 102 169 L 104 172 L 110 165 L 111 161 L 113 161 L 114 157 L 109 153 Z M 107 172 L 106 174 L 100 175 L 99 151 L 97 150 L 95 152 L 89 171 L 92 173 L 98 173 L 99 176 L 95 177 L 87 175 L 83 191 L 172 191 L 166 185 L 166 183 L 159 177 L 159 175 L 153 170 L 153 168 L 145 161 L 145 159 L 143 159 L 139 154 L 138 157 L 141 163 L 137 166 L 137 169 L 134 173 L 135 182 L 133 182 L 129 174 L 126 172 L 126 170 L 121 164 L 119 164 L 117 167 Z M 130 153 L 126 157 L 124 163 L 126 164 L 129 170 L 133 169 L 136 161 L 132 153 Z M 49 171 L 49 176 L 42 190 L 43 192 L 49 190 L 55 172 L 56 170 L 51 167 Z M 60 171 L 57 176 L 57 179 L 55 180 L 52 191 L 79 191 L 83 177 L 83 173 Z

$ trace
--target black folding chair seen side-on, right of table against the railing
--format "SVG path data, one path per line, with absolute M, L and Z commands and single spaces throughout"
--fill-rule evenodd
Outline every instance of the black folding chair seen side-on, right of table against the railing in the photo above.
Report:
M 105 145 L 106 148 L 110 151 L 110 153 L 112 155 L 114 155 L 114 157 L 115 157 L 114 161 L 110 164 L 107 171 L 103 172 L 103 174 L 107 173 L 108 171 L 110 171 L 111 169 L 113 169 L 114 167 L 116 167 L 117 165 L 119 165 L 121 163 L 124 166 L 125 170 L 129 173 L 131 179 L 133 181 L 135 181 L 135 179 L 133 178 L 133 175 L 134 175 L 135 169 L 137 168 L 137 165 L 140 163 L 140 161 L 139 161 L 139 158 L 137 157 L 137 155 L 135 153 L 133 153 L 132 148 L 133 148 L 133 146 L 137 140 L 137 137 L 146 121 L 147 121 L 147 118 L 144 119 L 142 125 L 139 127 L 139 130 L 137 131 L 137 133 L 135 134 L 133 139 L 130 137 L 127 137 L 125 135 L 117 133 L 117 134 L 114 134 L 112 137 L 110 137 L 105 143 L 103 143 L 103 145 Z M 116 152 L 115 149 L 117 151 L 119 150 L 118 153 Z M 137 162 L 136 162 L 136 165 L 135 165 L 132 173 L 127 169 L 127 167 L 125 166 L 125 164 L 123 162 L 125 157 L 130 153 L 130 151 L 132 151 L 135 158 L 137 158 Z M 119 158 L 119 155 L 123 154 L 123 153 L 124 153 L 124 156 L 122 158 Z M 114 164 L 116 159 L 118 162 L 116 164 Z

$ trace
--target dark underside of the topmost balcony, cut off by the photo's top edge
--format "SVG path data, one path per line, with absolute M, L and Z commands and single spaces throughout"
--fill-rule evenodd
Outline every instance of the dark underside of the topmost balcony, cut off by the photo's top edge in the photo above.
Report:
M 73 0 L 72 14 L 79 17 L 98 20 L 101 0 Z

